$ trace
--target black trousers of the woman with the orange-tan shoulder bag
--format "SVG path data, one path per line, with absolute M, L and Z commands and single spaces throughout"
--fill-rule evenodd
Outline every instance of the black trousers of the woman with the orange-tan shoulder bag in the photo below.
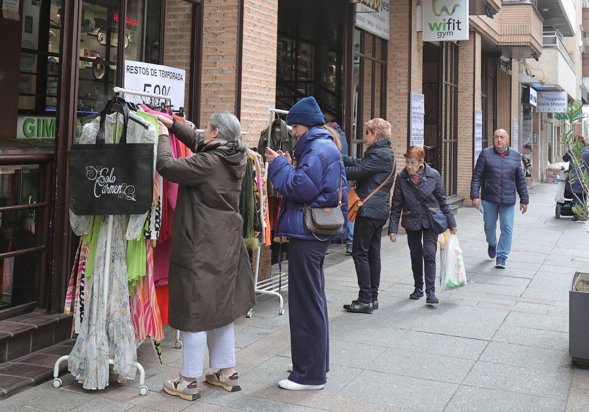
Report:
M 352 257 L 358 276 L 358 300 L 370 303 L 378 299 L 380 284 L 380 239 L 386 219 L 357 217 L 354 222 Z

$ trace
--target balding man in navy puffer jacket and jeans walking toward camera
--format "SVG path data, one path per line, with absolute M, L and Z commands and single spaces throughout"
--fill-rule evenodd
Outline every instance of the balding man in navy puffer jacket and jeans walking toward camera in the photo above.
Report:
M 505 260 L 511 251 L 514 225 L 515 192 L 519 194 L 519 210 L 528 211 L 528 187 L 521 168 L 519 153 L 509 147 L 509 134 L 498 129 L 493 135 L 494 145 L 484 149 L 472 172 L 472 206 L 481 204 L 484 211 L 485 235 L 489 244 L 489 258 L 497 257 L 498 269 L 505 268 Z M 497 242 L 497 218 L 501 236 Z

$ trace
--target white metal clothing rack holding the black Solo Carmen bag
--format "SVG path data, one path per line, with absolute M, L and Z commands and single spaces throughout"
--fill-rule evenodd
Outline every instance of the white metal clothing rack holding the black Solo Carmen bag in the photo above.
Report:
M 152 99 L 160 99 L 160 100 L 164 101 L 164 104 L 166 102 L 171 102 L 171 98 L 169 96 L 164 96 L 164 95 L 160 95 L 160 94 L 140 92 L 140 91 L 131 90 L 131 89 L 124 89 L 124 88 L 120 88 L 120 87 L 115 87 L 114 89 L 112 89 L 112 91 L 114 91 L 115 94 L 135 95 L 135 96 L 149 97 Z M 115 136 L 118 136 L 118 113 L 117 113 L 117 129 L 115 131 Z M 107 244 L 106 244 L 106 250 L 105 250 L 105 255 L 107 256 L 107 259 L 105 260 L 105 263 L 104 263 L 104 311 L 105 311 L 104 316 L 105 316 L 105 318 L 106 318 L 106 312 L 107 312 L 107 308 L 108 308 L 108 282 L 110 281 L 112 225 L 113 225 L 113 217 L 112 217 L 112 215 L 108 215 Z M 55 366 L 53 368 L 53 387 L 54 388 L 59 388 L 63 384 L 63 382 L 59 378 L 59 365 L 62 362 L 67 361 L 68 358 L 69 358 L 69 355 L 64 355 L 64 356 L 60 357 L 57 361 L 55 361 Z M 114 365 L 114 361 L 112 359 L 109 359 L 108 364 Z M 139 384 L 140 384 L 139 394 L 141 396 L 145 396 L 149 392 L 149 389 L 147 388 L 147 386 L 145 386 L 145 369 L 137 361 L 135 361 L 133 363 L 133 366 L 136 367 L 137 370 L 139 371 Z

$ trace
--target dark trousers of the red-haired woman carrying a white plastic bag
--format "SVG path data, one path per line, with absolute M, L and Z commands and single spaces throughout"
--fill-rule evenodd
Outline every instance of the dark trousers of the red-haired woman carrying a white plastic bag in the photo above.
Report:
M 423 243 L 422 243 L 423 237 Z M 423 290 L 423 269 L 425 266 L 425 291 L 436 291 L 436 250 L 438 235 L 431 229 L 408 230 L 407 242 L 411 251 L 411 268 L 415 287 Z

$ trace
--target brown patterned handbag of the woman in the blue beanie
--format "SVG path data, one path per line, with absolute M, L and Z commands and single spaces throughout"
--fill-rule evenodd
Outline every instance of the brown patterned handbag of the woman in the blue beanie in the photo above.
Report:
M 340 168 L 341 170 L 341 168 Z M 332 236 L 343 232 L 345 219 L 342 212 L 342 177 L 339 178 L 339 203 L 337 207 L 310 207 L 305 205 L 303 210 L 303 225 L 319 241 L 325 242 Z M 320 238 L 317 235 L 327 236 Z

